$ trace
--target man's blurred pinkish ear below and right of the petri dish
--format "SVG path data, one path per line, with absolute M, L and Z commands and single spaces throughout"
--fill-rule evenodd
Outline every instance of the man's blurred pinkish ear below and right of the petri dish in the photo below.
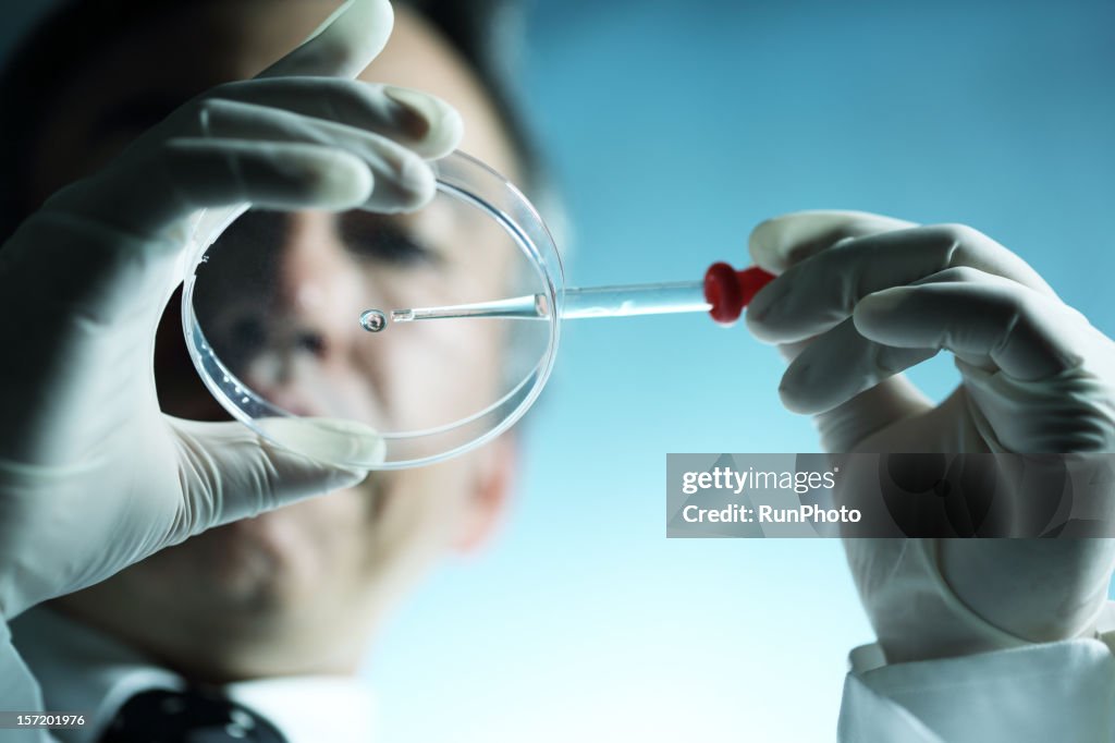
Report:
M 518 471 L 518 437 L 505 433 L 477 454 L 473 492 L 453 548 L 457 552 L 479 549 L 503 522 Z

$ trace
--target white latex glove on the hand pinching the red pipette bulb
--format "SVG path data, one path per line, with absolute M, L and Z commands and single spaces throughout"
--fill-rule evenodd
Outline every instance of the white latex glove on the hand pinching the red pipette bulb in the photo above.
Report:
M 749 248 L 780 276 L 755 297 L 747 325 L 782 345 L 782 399 L 814 416 L 825 450 L 1115 451 L 1115 344 L 990 238 L 802 212 L 759 224 Z M 961 384 L 934 405 L 900 373 L 941 349 Z M 1115 556 L 1101 539 L 845 548 L 891 660 L 1086 634 Z

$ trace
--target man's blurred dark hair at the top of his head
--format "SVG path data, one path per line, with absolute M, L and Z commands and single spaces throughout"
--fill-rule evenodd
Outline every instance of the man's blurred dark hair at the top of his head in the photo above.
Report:
M 220 0 L 69 0 L 49 13 L 8 56 L 0 70 L 0 242 L 38 204 L 27 184 L 41 123 L 54 93 L 80 65 L 177 9 Z M 392 0 L 421 15 L 453 45 L 484 85 L 512 139 L 529 185 L 537 160 L 514 105 L 513 70 L 521 9 L 515 0 Z M 149 112 L 152 124 L 185 103 Z

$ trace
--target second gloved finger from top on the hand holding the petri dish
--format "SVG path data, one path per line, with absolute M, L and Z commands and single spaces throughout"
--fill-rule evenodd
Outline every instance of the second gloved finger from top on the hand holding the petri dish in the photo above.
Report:
M 464 125 L 453 106 L 420 90 L 329 78 L 274 78 L 230 83 L 182 109 L 197 119 L 224 102 L 279 108 L 382 135 L 436 160 L 453 152 Z M 180 126 L 183 126 L 180 124 Z

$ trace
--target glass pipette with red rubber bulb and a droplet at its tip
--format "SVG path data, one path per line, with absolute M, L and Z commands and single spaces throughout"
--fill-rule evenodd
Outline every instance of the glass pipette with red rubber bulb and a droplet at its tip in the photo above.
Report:
M 717 322 L 731 325 L 759 289 L 774 277 L 752 267 L 736 271 L 727 263 L 714 263 L 702 281 L 673 281 L 617 287 L 566 289 L 561 319 L 632 317 L 672 312 L 709 312 Z M 545 320 L 551 313 L 545 295 L 526 295 L 471 305 L 366 310 L 360 316 L 365 330 L 379 332 L 391 322 L 414 322 L 450 318 L 514 318 Z

